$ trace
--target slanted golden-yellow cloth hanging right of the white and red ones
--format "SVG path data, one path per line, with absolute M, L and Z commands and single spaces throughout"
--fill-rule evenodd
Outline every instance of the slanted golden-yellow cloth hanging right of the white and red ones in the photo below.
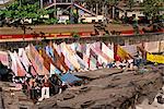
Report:
M 117 55 L 121 59 L 131 59 L 130 55 L 126 50 L 124 50 L 120 46 L 118 46 L 118 48 L 117 48 Z

